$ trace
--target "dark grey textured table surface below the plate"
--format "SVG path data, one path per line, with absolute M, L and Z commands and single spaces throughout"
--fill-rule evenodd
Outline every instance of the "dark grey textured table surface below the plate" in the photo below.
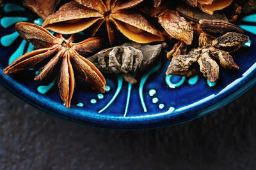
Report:
M 0 169 L 255 169 L 255 94 L 186 124 L 114 131 L 52 117 L 0 87 Z

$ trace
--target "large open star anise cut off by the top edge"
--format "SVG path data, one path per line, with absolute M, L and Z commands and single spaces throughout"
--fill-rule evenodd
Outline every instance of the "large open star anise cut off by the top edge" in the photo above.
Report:
M 74 34 L 93 27 L 92 36 L 106 22 L 109 42 L 115 42 L 115 29 L 137 43 L 163 41 L 163 35 L 140 13 L 129 11 L 143 0 L 75 0 L 61 6 L 46 18 L 43 27 L 61 34 Z M 116 28 L 115 28 L 116 27 Z

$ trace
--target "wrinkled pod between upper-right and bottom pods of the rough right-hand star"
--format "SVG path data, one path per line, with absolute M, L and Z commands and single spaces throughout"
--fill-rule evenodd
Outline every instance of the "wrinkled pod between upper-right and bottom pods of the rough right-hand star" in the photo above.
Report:
M 209 48 L 209 50 L 213 57 L 220 60 L 221 66 L 225 69 L 239 69 L 239 66 L 237 66 L 236 62 L 234 62 L 232 56 L 228 52 L 213 47 Z

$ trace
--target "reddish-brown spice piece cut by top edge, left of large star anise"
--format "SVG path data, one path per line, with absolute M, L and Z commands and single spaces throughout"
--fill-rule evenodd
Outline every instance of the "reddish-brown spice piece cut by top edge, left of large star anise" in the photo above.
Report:
M 23 5 L 34 11 L 39 17 L 44 20 L 49 15 L 55 12 L 56 6 L 61 0 L 25 0 Z

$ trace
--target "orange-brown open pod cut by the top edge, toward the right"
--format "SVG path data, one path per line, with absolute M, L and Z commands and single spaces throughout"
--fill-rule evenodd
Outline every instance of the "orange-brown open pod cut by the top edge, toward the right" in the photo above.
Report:
M 202 1 L 205 2 L 205 1 Z M 198 1 L 198 7 L 200 10 L 204 11 L 205 13 L 208 13 L 209 15 L 212 15 L 214 11 L 222 10 L 223 8 L 226 8 L 227 6 L 230 6 L 232 4 L 233 0 L 211 0 L 209 3 L 201 3 L 201 1 Z

